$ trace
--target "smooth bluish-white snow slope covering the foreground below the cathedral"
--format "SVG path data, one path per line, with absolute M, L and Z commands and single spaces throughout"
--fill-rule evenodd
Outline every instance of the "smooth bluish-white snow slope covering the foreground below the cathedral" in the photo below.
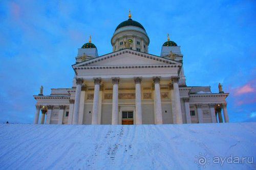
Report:
M 212 163 L 231 154 L 255 158 L 255 127 L 1 124 L 0 169 L 255 169 Z M 199 156 L 208 158 L 205 168 L 195 163 Z

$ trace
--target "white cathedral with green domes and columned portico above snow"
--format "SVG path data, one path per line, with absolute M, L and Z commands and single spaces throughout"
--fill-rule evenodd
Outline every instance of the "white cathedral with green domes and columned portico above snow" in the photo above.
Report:
M 36 100 L 34 123 L 78 125 L 197 124 L 229 122 L 228 93 L 209 86 L 187 86 L 183 55 L 169 37 L 161 55 L 148 53 L 144 27 L 121 22 L 112 38 L 113 52 L 98 56 L 91 42 L 78 49 L 71 88 L 53 88 Z M 223 120 L 223 116 L 224 120 Z M 46 120 L 45 120 L 46 116 Z

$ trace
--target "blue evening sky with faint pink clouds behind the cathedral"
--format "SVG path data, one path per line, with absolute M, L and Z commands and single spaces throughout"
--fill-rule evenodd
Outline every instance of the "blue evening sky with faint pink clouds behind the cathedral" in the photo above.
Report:
M 0 122 L 33 123 L 40 85 L 72 86 L 77 48 L 110 53 L 131 9 L 160 55 L 166 34 L 181 46 L 188 86 L 223 84 L 230 122 L 256 122 L 255 1 L 2 1 Z

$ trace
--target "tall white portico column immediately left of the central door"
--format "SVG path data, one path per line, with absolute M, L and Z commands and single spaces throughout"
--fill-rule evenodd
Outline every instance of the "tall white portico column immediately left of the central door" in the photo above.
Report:
M 113 97 L 112 97 L 112 125 L 118 125 L 118 83 L 119 78 L 112 78 Z

